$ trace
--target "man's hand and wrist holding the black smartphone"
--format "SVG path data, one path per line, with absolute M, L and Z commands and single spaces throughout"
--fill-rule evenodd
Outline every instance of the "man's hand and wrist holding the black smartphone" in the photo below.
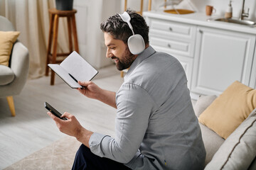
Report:
M 47 114 L 50 118 L 53 118 L 60 132 L 76 137 L 78 141 L 89 147 L 90 136 L 93 132 L 83 128 L 74 115 L 65 112 L 61 117 L 68 118 L 68 120 L 62 120 L 53 115 L 53 113 L 48 112 Z

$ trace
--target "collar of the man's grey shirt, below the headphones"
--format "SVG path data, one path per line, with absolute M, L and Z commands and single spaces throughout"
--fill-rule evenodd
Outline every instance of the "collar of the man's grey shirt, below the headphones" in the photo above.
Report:
M 129 75 L 132 74 L 132 72 L 134 71 L 134 69 L 141 63 L 143 62 L 146 58 L 148 58 L 149 56 L 153 55 L 156 51 L 154 50 L 153 47 L 151 47 L 149 45 L 149 47 L 147 47 L 142 53 L 140 53 L 137 58 L 134 60 L 134 62 L 132 62 L 131 67 L 129 68 L 127 74 L 125 74 L 124 76 L 124 81 L 126 79 L 128 79 Z

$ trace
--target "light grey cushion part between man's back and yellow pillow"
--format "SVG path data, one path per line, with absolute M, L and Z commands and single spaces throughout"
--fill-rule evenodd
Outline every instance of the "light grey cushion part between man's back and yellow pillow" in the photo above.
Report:
M 210 106 L 211 103 L 217 98 L 217 96 L 199 96 L 198 100 L 196 101 L 196 104 L 194 106 L 194 110 L 196 113 L 196 116 L 199 117 L 203 111 Z

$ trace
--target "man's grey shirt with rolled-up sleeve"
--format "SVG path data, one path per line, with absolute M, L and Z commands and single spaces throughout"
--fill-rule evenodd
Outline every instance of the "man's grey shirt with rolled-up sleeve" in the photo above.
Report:
M 206 150 L 176 58 L 151 46 L 117 92 L 116 137 L 93 133 L 90 149 L 131 169 L 203 169 Z

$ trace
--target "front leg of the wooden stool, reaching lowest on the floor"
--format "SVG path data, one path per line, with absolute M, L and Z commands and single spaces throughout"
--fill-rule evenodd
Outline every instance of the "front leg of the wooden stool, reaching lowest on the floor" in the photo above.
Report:
M 55 15 L 54 26 L 53 26 L 53 61 L 52 61 L 53 64 L 56 63 L 56 57 L 57 57 L 58 19 L 59 19 L 59 16 Z M 50 74 L 50 85 L 54 85 L 54 77 L 55 77 L 55 73 L 52 70 Z

